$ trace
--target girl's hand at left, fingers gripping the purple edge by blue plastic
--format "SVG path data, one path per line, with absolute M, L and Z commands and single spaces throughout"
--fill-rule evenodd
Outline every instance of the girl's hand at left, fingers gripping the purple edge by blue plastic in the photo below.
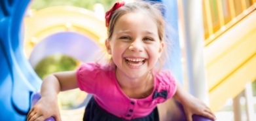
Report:
M 46 118 L 54 116 L 56 121 L 60 121 L 60 110 L 58 108 L 58 99 L 50 97 L 41 97 L 27 114 L 27 121 L 44 121 Z

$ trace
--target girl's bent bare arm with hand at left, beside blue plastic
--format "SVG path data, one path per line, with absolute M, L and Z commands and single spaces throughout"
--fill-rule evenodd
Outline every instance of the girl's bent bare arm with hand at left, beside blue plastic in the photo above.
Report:
M 65 71 L 48 75 L 43 79 L 41 86 L 41 99 L 31 108 L 27 114 L 27 121 L 45 120 L 54 116 L 60 121 L 60 110 L 58 108 L 58 93 L 60 91 L 77 88 L 76 71 Z

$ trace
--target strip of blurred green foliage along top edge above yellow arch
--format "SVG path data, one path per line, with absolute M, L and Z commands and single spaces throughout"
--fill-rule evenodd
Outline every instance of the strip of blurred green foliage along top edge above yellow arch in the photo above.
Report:
M 117 0 L 34 0 L 31 3 L 32 9 L 44 9 L 52 6 L 75 6 L 93 10 L 96 3 L 101 3 L 105 10 L 109 10 Z

